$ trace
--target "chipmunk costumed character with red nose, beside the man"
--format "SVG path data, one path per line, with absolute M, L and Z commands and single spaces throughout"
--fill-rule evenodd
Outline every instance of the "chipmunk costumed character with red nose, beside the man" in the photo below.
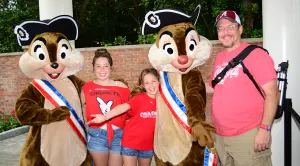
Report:
M 194 27 L 199 13 L 200 5 L 191 16 L 174 9 L 150 11 L 143 23 L 142 34 L 158 32 L 148 55 L 161 80 L 154 136 L 158 166 L 203 166 L 205 147 L 213 147 L 215 129 L 205 122 L 205 84 L 194 69 L 212 50 Z

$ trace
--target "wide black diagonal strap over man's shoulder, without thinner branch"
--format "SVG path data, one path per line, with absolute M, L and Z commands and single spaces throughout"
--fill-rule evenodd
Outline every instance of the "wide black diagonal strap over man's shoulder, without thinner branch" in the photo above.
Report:
M 261 48 L 268 52 L 266 49 L 263 47 L 257 46 L 257 45 L 249 45 L 247 46 L 239 55 L 237 55 L 235 58 L 233 58 L 231 61 L 229 61 L 228 65 L 215 77 L 214 80 L 212 80 L 211 84 L 212 87 L 214 88 L 225 76 L 227 71 L 231 68 L 234 68 L 237 66 L 239 63 L 241 63 L 249 54 L 251 51 L 253 51 L 255 48 Z

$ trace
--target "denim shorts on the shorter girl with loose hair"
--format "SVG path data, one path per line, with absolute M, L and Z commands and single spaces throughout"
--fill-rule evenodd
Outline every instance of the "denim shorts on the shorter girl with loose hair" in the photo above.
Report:
M 121 147 L 121 155 L 123 156 L 137 156 L 140 158 L 152 158 L 153 150 L 136 150 L 127 148 L 125 146 Z

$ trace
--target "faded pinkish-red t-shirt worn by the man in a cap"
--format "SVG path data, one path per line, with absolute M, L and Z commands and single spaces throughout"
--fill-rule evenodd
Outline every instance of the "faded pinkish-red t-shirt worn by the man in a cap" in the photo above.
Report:
M 223 51 L 217 55 L 210 84 L 228 62 L 248 45 L 242 42 L 235 50 Z M 260 87 L 277 79 L 274 62 L 264 50 L 253 50 L 243 62 Z M 264 99 L 243 72 L 240 64 L 230 69 L 215 86 L 212 119 L 217 134 L 223 136 L 242 134 L 261 123 L 263 112 Z

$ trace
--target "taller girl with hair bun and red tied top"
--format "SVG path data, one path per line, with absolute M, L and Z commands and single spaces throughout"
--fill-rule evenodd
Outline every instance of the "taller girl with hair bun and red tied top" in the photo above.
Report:
M 115 106 L 128 100 L 129 88 L 120 81 L 110 79 L 113 62 L 106 49 L 98 49 L 93 58 L 96 80 L 83 86 L 83 106 L 87 121 L 94 114 L 107 114 Z M 87 149 L 95 166 L 122 166 L 121 139 L 127 115 L 119 115 L 103 123 L 88 126 Z

